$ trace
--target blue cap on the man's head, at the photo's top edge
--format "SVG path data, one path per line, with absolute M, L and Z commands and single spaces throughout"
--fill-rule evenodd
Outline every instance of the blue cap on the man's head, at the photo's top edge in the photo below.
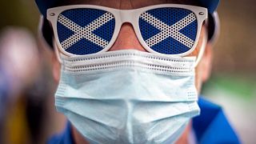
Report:
M 40 10 L 41 14 L 46 17 L 46 11 L 47 9 L 54 7 L 56 5 L 56 2 L 59 0 L 34 0 L 37 5 L 38 9 Z M 206 7 L 208 9 L 208 12 L 210 14 L 214 13 L 214 10 L 218 7 L 218 2 L 220 0 L 199 0 L 203 7 Z

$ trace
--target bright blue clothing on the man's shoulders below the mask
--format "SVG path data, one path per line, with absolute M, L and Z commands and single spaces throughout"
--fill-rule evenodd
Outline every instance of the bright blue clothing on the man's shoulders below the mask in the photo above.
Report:
M 199 98 L 201 114 L 193 118 L 193 129 L 198 143 L 240 143 L 220 106 Z M 71 124 L 67 122 L 62 134 L 55 135 L 49 144 L 72 144 Z

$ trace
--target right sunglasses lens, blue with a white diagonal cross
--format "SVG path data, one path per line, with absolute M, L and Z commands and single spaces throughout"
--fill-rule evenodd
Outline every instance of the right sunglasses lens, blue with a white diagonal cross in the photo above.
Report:
M 150 49 L 161 54 L 182 54 L 194 46 L 196 15 L 181 8 L 158 8 L 140 15 L 139 29 Z

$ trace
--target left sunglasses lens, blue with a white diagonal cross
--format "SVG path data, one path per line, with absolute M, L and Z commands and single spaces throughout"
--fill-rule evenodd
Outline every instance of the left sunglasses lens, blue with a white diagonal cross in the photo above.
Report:
M 58 16 L 58 40 L 70 54 L 94 54 L 108 46 L 114 26 L 114 15 L 104 10 L 65 10 Z

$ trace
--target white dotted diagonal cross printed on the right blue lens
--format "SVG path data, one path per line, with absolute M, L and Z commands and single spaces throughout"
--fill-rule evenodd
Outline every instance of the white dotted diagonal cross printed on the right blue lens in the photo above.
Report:
M 191 48 L 193 46 L 194 41 L 179 32 L 179 30 L 182 30 L 184 27 L 188 26 L 191 22 L 196 20 L 193 13 L 190 13 L 185 18 L 182 18 L 180 21 L 174 23 L 172 26 L 166 25 L 166 23 L 161 22 L 158 18 L 154 18 L 154 16 L 149 13 L 143 13 L 140 18 L 150 23 L 150 25 L 158 28 L 158 30 L 161 30 L 160 33 L 146 40 L 146 44 L 148 46 L 154 46 L 169 37 L 176 39 L 178 42 L 181 42 L 187 47 Z

